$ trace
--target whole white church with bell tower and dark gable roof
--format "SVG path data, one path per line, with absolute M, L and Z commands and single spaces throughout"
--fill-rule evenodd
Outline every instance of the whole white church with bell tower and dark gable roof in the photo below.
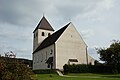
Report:
M 33 70 L 59 69 L 65 64 L 93 64 L 87 45 L 70 22 L 58 31 L 43 16 L 33 31 Z

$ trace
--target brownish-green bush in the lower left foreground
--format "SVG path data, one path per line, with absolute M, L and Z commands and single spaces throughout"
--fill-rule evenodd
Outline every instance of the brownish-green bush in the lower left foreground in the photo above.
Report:
M 0 58 L 0 80 L 33 80 L 32 71 L 17 59 Z

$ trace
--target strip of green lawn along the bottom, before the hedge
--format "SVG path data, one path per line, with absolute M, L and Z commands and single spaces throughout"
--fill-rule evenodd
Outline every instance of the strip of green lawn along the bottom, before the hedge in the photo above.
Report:
M 37 80 L 120 80 L 120 74 L 79 73 L 58 76 L 57 74 L 36 74 Z

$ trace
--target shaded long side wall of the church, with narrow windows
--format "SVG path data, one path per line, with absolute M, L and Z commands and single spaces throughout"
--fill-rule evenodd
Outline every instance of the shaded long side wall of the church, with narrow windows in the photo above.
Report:
M 37 69 L 51 69 L 51 66 L 48 68 L 48 59 L 53 57 L 53 68 L 55 68 L 54 64 L 54 44 L 48 46 L 36 53 L 33 54 L 33 70 Z

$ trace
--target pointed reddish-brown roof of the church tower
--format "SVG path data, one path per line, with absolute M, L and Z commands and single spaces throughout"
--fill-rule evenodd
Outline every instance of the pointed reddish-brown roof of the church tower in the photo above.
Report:
M 47 19 L 44 16 L 40 20 L 39 24 L 37 25 L 37 27 L 35 28 L 35 30 L 33 31 L 33 33 L 37 29 L 44 29 L 44 30 L 54 31 L 54 29 L 52 28 L 52 26 L 50 25 L 50 23 L 47 21 Z

